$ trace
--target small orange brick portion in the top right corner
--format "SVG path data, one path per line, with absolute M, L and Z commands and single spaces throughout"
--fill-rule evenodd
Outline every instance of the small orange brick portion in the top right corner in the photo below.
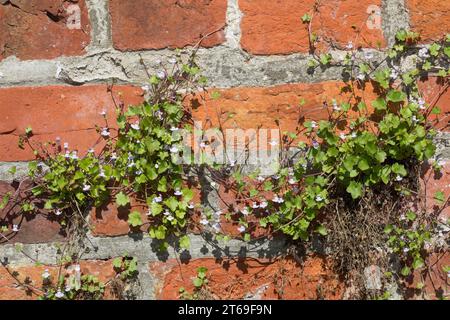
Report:
M 450 2 L 441 0 L 406 0 L 411 29 L 424 42 L 438 40 L 450 32 Z

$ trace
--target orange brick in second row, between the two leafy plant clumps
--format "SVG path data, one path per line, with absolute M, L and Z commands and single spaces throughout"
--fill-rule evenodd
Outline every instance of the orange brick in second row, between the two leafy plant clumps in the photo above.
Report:
M 324 120 L 332 112 L 332 100 L 347 101 L 349 95 L 342 92 L 342 82 L 329 81 L 314 84 L 300 83 L 274 87 L 239 87 L 232 89 L 210 89 L 207 95 L 197 95 L 190 100 L 193 118 L 203 122 L 203 129 L 218 127 L 219 120 L 224 129 L 277 129 L 295 132 L 299 121 Z M 220 98 L 213 99 L 218 92 Z M 357 94 L 374 99 L 369 85 L 364 92 L 355 88 Z M 305 104 L 300 105 L 304 99 Z M 369 100 L 370 101 L 370 100 Z M 328 109 L 324 103 L 328 103 Z M 351 101 L 354 102 L 354 101 Z M 227 120 L 227 115 L 233 115 Z M 225 121 L 226 120 L 226 121 Z M 208 125 L 207 125 L 208 123 Z

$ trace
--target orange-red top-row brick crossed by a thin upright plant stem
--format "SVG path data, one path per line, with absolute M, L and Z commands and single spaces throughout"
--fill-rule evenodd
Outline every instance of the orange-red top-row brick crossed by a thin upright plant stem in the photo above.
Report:
M 311 14 L 315 3 L 315 0 L 239 1 L 244 14 L 242 47 L 253 54 L 308 52 L 307 25 L 302 23 L 301 17 L 308 12 Z M 372 21 L 373 8 L 380 12 L 381 1 L 323 1 L 319 14 L 313 18 L 312 31 L 340 47 L 349 41 L 355 46 L 384 46 L 381 24 Z M 381 17 L 378 15 L 377 19 Z M 353 26 L 361 30 L 359 36 Z

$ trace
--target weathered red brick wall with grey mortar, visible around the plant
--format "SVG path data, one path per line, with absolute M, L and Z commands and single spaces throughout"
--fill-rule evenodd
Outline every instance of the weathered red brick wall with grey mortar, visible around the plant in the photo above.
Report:
M 308 39 L 300 17 L 313 0 L 9 0 L 0 1 L 0 195 L 14 190 L 8 173 L 17 166 L 21 175 L 33 159 L 29 149 L 17 148 L 17 136 L 29 125 L 36 141 L 61 137 L 71 147 L 87 150 L 96 139 L 100 111 L 113 114 L 107 85 L 117 84 L 113 94 L 127 104 L 143 99 L 145 68 L 156 72 L 174 49 L 195 45 L 212 33 L 198 52 L 198 62 L 209 85 L 221 92 L 209 110 L 236 114 L 234 125 L 274 127 L 279 119 L 286 130 L 295 127 L 300 98 L 304 110 L 340 94 L 341 69 L 308 72 Z M 424 43 L 450 32 L 450 2 L 419 0 L 326 0 L 314 27 L 335 45 L 334 54 L 354 45 L 383 57 L 403 27 L 420 31 Z M 354 28 L 364 34 L 355 41 Z M 439 85 L 424 84 L 431 95 Z M 439 105 L 450 112 L 450 92 Z M 310 116 L 321 119 L 320 112 Z M 209 117 L 205 106 L 194 116 Z M 110 119 L 111 121 L 113 119 Z M 439 159 L 444 175 L 428 183 L 448 194 L 450 136 L 440 134 Z M 220 207 L 217 193 L 205 199 Z M 444 213 L 447 214 L 448 212 Z M 3 218 L 0 216 L 0 219 Z M 277 260 L 284 253 L 284 239 L 258 243 L 232 241 L 212 245 L 193 234 L 189 255 L 169 250 L 159 256 L 150 239 L 129 234 L 126 216 L 114 207 L 93 210 L 89 216 L 95 231 L 85 240 L 89 252 L 82 268 L 103 279 L 111 277 L 111 259 L 125 253 L 139 260 L 141 299 L 176 298 L 179 287 L 190 288 L 198 266 L 211 270 L 214 293 L 222 298 L 340 299 L 344 289 L 326 261 L 312 255 L 303 267 L 291 260 Z M 17 223 L 17 221 L 10 221 Z M 43 216 L 21 221 L 21 232 L 8 242 L 0 239 L 0 259 L 38 283 L 42 270 L 55 272 L 55 244 L 66 241 L 59 225 Z M 27 256 L 17 253 L 22 243 Z M 34 266 L 30 257 L 45 266 Z M 449 258 L 447 257 L 447 264 Z M 435 266 L 438 270 L 438 266 Z M 288 284 L 278 277 L 285 274 Z M 436 279 L 440 279 L 438 276 Z M 319 290 L 320 289 L 320 290 Z M 225 293 L 224 293 L 225 292 Z M 321 292 L 319 297 L 318 292 Z M 221 294 L 222 293 L 222 294 Z M 0 268 L 0 298 L 35 298 L 15 288 L 14 280 Z

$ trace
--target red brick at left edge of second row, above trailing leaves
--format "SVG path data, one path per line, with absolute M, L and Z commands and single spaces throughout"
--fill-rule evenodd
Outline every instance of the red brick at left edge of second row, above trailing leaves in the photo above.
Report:
M 143 100 L 142 90 L 118 86 L 113 89 L 116 99 L 128 104 Z M 31 126 L 33 143 L 68 142 L 71 150 L 85 152 L 98 140 L 95 125 L 105 126 L 100 115 L 107 110 L 110 127 L 115 125 L 115 106 L 106 86 L 48 86 L 0 89 L 0 161 L 34 159 L 30 148 L 18 148 L 18 135 Z

